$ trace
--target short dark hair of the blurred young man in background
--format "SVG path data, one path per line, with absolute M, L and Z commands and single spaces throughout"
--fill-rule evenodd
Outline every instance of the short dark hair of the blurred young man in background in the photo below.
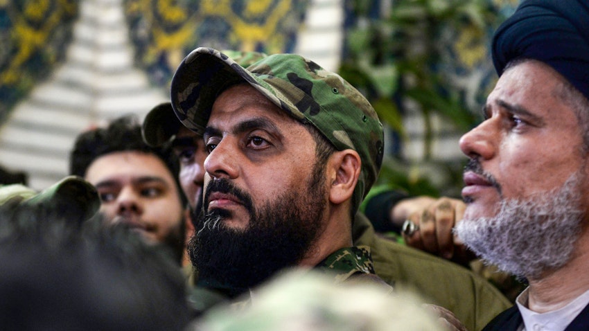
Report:
M 125 151 L 153 154 L 164 161 L 176 183 L 180 202 L 182 206 L 186 206 L 187 199 L 178 178 L 179 162 L 171 145 L 168 143 L 152 147 L 145 143 L 141 136 L 141 124 L 133 115 L 116 118 L 107 127 L 79 134 L 69 156 L 69 173 L 85 177 L 89 166 L 100 156 Z

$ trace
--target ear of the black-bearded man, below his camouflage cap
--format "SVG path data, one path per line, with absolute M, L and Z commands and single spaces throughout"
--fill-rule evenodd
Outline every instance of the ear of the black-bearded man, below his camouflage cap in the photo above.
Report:
M 333 204 L 342 204 L 353 195 L 360 177 L 362 160 L 355 150 L 342 150 L 332 154 L 330 165 L 335 172 L 330 186 L 329 201 Z

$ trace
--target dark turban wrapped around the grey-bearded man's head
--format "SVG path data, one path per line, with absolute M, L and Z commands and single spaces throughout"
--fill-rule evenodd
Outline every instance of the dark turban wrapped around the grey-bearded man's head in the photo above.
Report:
M 589 1 L 522 1 L 493 36 L 499 75 L 518 57 L 552 66 L 589 99 Z

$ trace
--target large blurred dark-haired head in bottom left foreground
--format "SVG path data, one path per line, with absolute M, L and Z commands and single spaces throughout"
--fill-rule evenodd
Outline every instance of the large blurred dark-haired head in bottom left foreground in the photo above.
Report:
M 6 330 L 183 330 L 194 314 L 168 253 L 121 226 L 0 206 Z

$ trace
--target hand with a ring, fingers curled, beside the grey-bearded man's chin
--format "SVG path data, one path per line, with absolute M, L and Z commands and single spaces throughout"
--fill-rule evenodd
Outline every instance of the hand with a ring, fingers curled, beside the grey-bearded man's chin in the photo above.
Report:
M 418 228 L 409 235 L 403 233 L 407 246 L 466 265 L 475 256 L 452 233 L 452 228 L 464 216 L 465 208 L 466 204 L 459 199 L 416 197 L 399 202 L 392 214 L 396 212 L 396 222 L 410 220 Z

